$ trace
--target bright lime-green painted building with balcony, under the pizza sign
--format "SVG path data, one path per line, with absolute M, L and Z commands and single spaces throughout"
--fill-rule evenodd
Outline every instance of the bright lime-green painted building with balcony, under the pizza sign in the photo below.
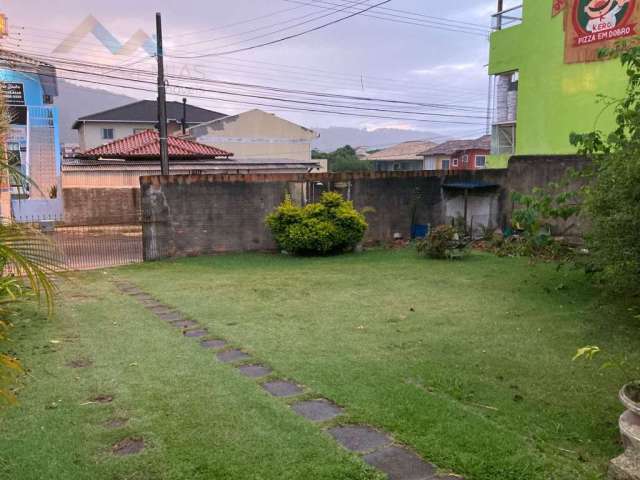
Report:
M 552 0 L 524 0 L 500 11 L 502 3 L 490 48 L 490 166 L 505 166 L 513 154 L 575 153 L 572 132 L 611 130 L 613 111 L 598 95 L 623 93 L 626 77 L 619 61 L 567 64 L 564 14 L 552 16 Z

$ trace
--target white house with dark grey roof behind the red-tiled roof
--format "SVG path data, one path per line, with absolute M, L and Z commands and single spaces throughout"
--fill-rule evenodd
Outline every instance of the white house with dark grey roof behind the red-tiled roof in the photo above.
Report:
M 167 102 L 169 135 L 179 135 L 194 125 L 209 122 L 226 115 L 186 102 Z M 183 125 L 184 122 L 184 125 Z M 156 128 L 158 102 L 141 100 L 122 107 L 80 117 L 73 124 L 78 131 L 80 150 L 90 150 L 114 140 Z

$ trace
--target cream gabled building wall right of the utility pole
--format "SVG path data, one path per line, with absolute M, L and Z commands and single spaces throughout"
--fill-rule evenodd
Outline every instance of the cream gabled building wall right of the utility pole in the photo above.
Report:
M 232 152 L 236 160 L 311 161 L 313 130 L 262 110 L 250 110 L 189 129 L 189 137 Z

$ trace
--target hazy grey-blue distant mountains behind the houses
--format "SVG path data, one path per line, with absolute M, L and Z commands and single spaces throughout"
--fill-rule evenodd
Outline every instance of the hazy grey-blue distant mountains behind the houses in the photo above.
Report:
M 139 99 L 118 95 L 106 90 L 89 88 L 58 81 L 59 96 L 56 106 L 60 112 L 60 141 L 78 143 L 78 134 L 71 127 L 82 116 L 120 107 Z M 313 127 L 312 127 L 313 128 Z M 344 145 L 356 148 L 366 146 L 369 149 L 383 148 L 409 140 L 424 140 L 433 137 L 430 132 L 419 130 L 400 130 L 383 128 L 364 130 L 350 127 L 314 128 L 320 138 L 313 142 L 313 148 L 331 152 Z

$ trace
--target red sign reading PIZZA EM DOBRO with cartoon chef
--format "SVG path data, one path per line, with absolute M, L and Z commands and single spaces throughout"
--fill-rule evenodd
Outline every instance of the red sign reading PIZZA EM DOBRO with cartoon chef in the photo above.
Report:
M 576 0 L 573 6 L 574 45 L 590 45 L 636 34 L 631 17 L 636 0 Z

